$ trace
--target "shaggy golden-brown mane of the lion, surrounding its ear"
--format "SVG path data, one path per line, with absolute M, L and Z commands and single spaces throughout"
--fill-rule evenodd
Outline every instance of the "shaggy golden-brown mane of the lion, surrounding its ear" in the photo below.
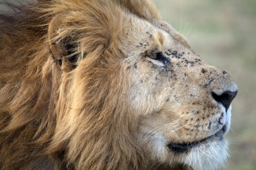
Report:
M 11 12 L 0 15 L 2 169 L 29 169 L 33 160 L 56 169 L 143 169 L 148 164 L 133 137 L 135 120 L 126 111 L 128 75 L 117 68 L 123 15 L 129 10 L 93 2 L 38 1 L 11 5 Z M 68 72 L 53 59 L 47 39 L 49 22 L 65 11 L 72 15 L 55 38 L 69 36 L 78 44 L 73 51 L 78 61 L 87 60 Z

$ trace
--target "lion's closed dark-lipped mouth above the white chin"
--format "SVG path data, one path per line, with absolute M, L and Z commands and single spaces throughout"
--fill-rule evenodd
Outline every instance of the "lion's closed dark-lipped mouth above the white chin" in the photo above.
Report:
M 176 153 L 184 153 L 185 151 L 189 151 L 189 149 L 198 146 L 199 144 L 204 144 L 209 140 L 214 140 L 214 138 L 218 137 L 220 140 L 223 138 L 223 134 L 226 132 L 226 125 L 222 127 L 218 132 L 212 134 L 211 136 L 207 136 L 201 140 L 197 140 L 195 142 L 187 142 L 187 143 L 169 143 L 167 146 L 171 151 Z

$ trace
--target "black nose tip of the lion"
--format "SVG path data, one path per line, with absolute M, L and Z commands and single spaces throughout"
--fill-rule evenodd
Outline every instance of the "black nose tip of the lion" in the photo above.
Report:
M 212 92 L 212 97 L 214 97 L 214 99 L 217 102 L 222 103 L 222 105 L 224 105 L 226 110 L 228 110 L 232 100 L 234 99 L 234 97 L 236 97 L 236 94 L 237 94 L 237 91 L 235 92 L 225 91 L 221 95 L 217 95 L 216 93 Z

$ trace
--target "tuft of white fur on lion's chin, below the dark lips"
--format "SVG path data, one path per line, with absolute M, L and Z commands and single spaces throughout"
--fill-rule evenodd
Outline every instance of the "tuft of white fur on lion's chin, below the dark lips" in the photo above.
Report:
M 226 165 L 229 157 L 227 150 L 228 142 L 224 138 L 200 144 L 189 151 L 184 163 L 194 169 L 218 169 Z

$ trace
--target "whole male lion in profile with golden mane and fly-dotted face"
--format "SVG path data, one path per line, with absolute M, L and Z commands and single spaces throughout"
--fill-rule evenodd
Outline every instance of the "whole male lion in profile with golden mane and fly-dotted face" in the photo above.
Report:
M 216 169 L 237 86 L 149 0 L 0 17 L 0 169 Z

